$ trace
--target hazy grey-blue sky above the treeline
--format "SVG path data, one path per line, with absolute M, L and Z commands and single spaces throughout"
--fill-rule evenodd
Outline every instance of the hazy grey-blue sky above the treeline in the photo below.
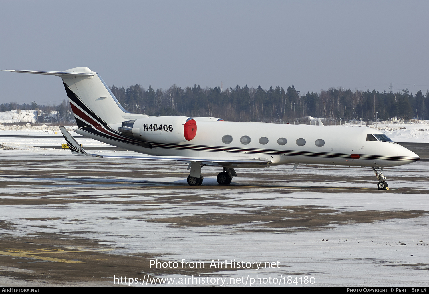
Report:
M 429 1 L 2 1 L 0 69 L 89 67 L 108 85 L 429 89 Z M 415 86 L 414 86 L 415 85 Z M 0 72 L 0 103 L 66 98 Z

